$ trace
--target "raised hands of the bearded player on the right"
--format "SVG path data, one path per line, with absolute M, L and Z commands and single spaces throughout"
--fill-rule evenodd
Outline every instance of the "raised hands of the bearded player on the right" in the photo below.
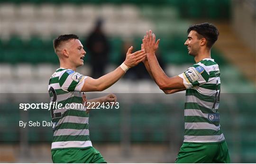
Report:
M 144 51 L 146 53 L 155 53 L 158 49 L 160 39 L 155 42 L 155 34 L 152 35 L 152 31 L 149 30 L 146 32 L 146 36 L 142 39 Z

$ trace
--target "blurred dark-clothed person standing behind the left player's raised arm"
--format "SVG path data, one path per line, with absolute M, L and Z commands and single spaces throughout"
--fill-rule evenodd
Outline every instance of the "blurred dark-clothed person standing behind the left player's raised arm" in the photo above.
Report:
M 103 20 L 98 18 L 95 27 L 86 39 L 86 48 L 91 53 L 91 69 L 93 78 L 104 74 L 108 64 L 110 44 L 102 31 Z

